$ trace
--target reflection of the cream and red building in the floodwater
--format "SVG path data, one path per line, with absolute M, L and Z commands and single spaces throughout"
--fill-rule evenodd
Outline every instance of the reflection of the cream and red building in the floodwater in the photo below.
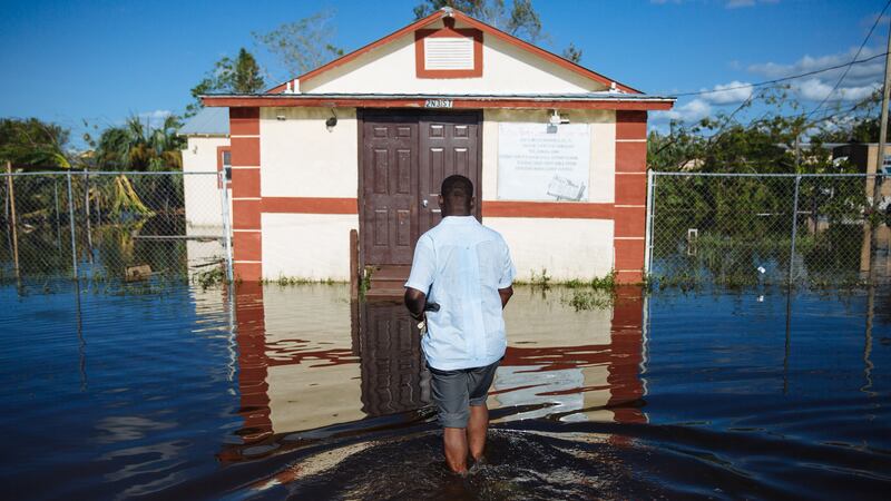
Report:
M 345 287 L 235 291 L 243 443 L 224 460 L 375 426 L 432 422 L 420 335 L 401 303 L 350 303 Z M 496 423 L 645 423 L 645 298 L 624 287 L 571 312 L 572 291 L 520 289 L 489 400 Z

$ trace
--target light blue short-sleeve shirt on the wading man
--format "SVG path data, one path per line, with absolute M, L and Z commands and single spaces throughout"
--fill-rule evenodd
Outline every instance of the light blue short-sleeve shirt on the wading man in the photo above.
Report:
M 421 235 L 405 287 L 440 305 L 439 312 L 427 312 L 421 341 L 431 367 L 481 367 L 505 355 L 498 289 L 509 287 L 515 275 L 505 239 L 473 216 L 447 216 Z

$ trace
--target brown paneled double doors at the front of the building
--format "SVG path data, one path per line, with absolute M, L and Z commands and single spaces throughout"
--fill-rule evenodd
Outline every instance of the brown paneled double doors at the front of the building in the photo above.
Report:
M 411 264 L 418 238 L 440 222 L 440 184 L 452 174 L 473 181 L 481 218 L 479 127 L 479 111 L 363 111 L 365 265 Z

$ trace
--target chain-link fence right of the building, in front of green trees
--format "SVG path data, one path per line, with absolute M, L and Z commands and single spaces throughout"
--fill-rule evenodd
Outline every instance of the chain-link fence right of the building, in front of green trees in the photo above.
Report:
M 888 204 L 873 212 L 873 177 L 650 173 L 648 275 L 662 286 L 849 286 L 868 283 L 872 265 L 887 281 Z

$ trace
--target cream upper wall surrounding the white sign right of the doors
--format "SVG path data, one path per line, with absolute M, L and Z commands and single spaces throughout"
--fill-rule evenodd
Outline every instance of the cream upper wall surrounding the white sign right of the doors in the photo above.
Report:
M 613 110 L 559 109 L 571 124 L 589 124 L 591 157 L 589 203 L 615 200 L 616 112 Z M 482 125 L 482 198 L 498 199 L 498 125 L 500 122 L 547 124 L 551 110 L 487 109 Z

